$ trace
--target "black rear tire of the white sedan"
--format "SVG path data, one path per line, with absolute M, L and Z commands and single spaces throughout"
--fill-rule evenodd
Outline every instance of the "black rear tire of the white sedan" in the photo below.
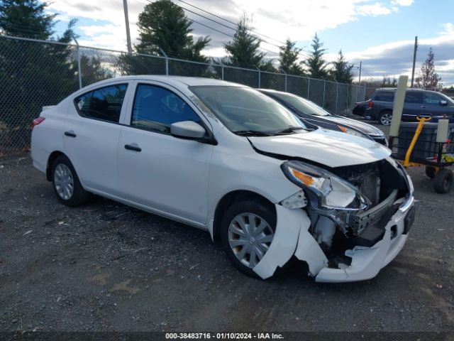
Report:
M 60 195 L 59 191 L 57 190 L 56 181 L 58 176 L 55 174 L 55 170 L 59 165 L 66 166 L 67 169 L 70 171 L 72 177 L 72 195 L 70 195 L 70 197 L 66 198 L 62 197 L 62 195 Z M 79 177 L 77 176 L 77 173 L 74 170 L 74 167 L 72 166 L 70 159 L 63 155 L 58 156 L 55 159 L 54 163 L 52 163 L 52 187 L 54 188 L 58 200 L 60 200 L 62 204 L 70 207 L 82 205 L 84 202 L 87 201 L 90 195 L 90 193 L 88 193 L 86 190 L 84 190 L 84 188 L 82 188 L 82 185 L 80 184 L 79 181 Z

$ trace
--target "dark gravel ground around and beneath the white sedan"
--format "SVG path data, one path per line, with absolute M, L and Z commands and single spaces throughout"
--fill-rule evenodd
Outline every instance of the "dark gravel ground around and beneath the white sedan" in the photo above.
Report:
M 370 281 L 267 281 L 229 264 L 209 234 L 101 197 L 57 201 L 30 156 L 0 160 L 0 330 L 454 331 L 453 193 L 409 171 L 416 220 Z

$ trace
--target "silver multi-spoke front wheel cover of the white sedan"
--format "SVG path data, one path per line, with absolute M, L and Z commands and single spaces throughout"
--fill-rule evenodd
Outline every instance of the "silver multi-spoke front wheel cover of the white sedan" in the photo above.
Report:
M 228 244 L 241 264 L 253 269 L 270 248 L 275 232 L 259 215 L 244 212 L 228 227 Z

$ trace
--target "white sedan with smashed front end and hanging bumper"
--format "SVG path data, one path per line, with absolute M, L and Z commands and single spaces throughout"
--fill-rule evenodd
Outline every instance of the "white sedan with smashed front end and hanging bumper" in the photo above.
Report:
M 45 107 L 33 126 L 33 165 L 63 204 L 95 193 L 206 229 L 250 276 L 296 256 L 316 281 L 372 278 L 414 219 L 411 180 L 388 148 L 307 129 L 243 85 L 118 77 Z

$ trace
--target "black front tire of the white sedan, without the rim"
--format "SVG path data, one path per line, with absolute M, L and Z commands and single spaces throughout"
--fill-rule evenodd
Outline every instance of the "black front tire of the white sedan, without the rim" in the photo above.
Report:
M 253 213 L 254 215 L 258 215 L 261 217 L 269 226 L 271 227 L 272 231 L 274 232 L 276 229 L 276 213 L 274 207 L 272 205 L 267 205 L 266 202 L 262 202 L 260 200 L 243 200 L 239 202 L 235 202 L 231 207 L 228 207 L 226 213 L 223 215 L 223 219 L 221 222 L 221 245 L 224 251 L 227 254 L 228 259 L 232 262 L 233 266 L 236 267 L 239 271 L 243 272 L 248 276 L 253 278 L 260 278 L 253 269 L 246 266 L 245 264 L 241 263 L 241 261 L 237 258 L 234 254 L 231 245 L 229 244 L 229 227 L 231 222 L 235 217 L 242 213 Z

